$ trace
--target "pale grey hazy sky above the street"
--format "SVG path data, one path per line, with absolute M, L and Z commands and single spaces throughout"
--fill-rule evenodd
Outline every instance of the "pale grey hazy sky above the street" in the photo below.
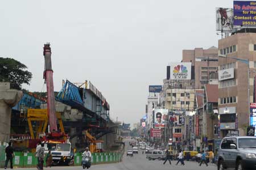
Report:
M 0 56 L 28 66 L 42 91 L 43 44 L 51 43 L 55 91 L 90 80 L 115 120 L 145 114 L 148 85 L 162 84 L 183 49 L 217 46 L 215 7 L 233 1 L 1 1 Z

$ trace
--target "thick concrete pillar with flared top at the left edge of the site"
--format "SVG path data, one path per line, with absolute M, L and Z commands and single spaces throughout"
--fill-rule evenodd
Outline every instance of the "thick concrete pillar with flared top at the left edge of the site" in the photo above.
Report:
M 11 108 L 21 99 L 22 91 L 10 89 L 9 82 L 0 82 L 0 141 L 9 142 L 11 133 Z

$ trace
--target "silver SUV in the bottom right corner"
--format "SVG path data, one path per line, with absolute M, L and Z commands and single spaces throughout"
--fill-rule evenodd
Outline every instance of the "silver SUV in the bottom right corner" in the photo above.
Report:
M 218 170 L 256 169 L 256 137 L 225 137 L 217 154 Z

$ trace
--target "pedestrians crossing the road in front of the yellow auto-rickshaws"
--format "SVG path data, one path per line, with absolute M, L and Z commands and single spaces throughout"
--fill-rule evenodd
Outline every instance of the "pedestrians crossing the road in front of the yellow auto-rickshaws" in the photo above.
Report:
M 178 158 L 178 161 L 177 161 L 176 165 L 181 163 L 181 165 L 184 166 L 185 164 L 184 164 L 184 158 L 183 158 L 183 151 L 182 150 L 180 150 L 179 156 L 177 156 L 177 158 Z M 169 161 L 170 164 L 172 164 L 171 163 L 170 151 L 168 151 L 168 150 L 166 150 L 166 160 L 164 160 L 163 164 L 166 164 L 167 160 Z M 214 160 L 214 153 L 209 152 L 209 161 L 210 161 L 210 163 L 213 163 L 213 160 Z M 199 154 L 197 154 L 197 162 L 200 163 L 199 166 L 201 166 L 203 163 L 205 163 L 205 165 L 207 165 L 207 167 L 208 167 L 207 152 L 203 151 L 203 154 L 201 154 L 199 152 Z

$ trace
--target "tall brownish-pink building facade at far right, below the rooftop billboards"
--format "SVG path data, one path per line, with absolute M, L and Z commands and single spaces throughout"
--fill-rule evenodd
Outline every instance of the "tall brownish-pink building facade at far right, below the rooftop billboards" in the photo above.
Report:
M 219 40 L 218 54 L 222 56 L 218 58 L 221 137 L 232 131 L 246 135 L 246 128 L 249 125 L 249 104 L 254 101 L 256 33 L 237 33 Z M 246 61 L 249 61 L 249 64 Z

